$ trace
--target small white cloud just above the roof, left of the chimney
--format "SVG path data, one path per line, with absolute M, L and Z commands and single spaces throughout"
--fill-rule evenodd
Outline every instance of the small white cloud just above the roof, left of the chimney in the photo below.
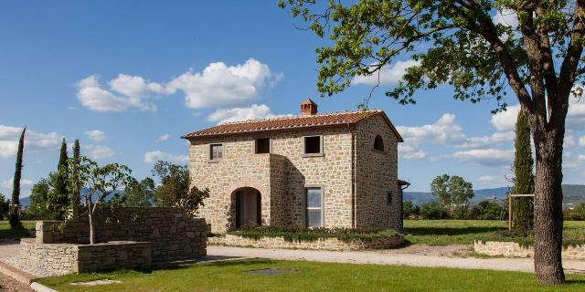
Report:
M 273 114 L 271 108 L 265 104 L 252 104 L 248 108 L 233 108 L 233 109 L 218 109 L 212 112 L 208 117 L 208 121 L 218 121 L 218 123 L 239 121 L 239 120 L 259 120 L 272 119 L 279 117 L 287 117 L 292 115 L 276 115 Z

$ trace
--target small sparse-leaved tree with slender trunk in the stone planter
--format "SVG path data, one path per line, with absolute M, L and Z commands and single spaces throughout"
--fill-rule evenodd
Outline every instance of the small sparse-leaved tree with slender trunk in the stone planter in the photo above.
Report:
M 69 163 L 73 165 L 74 163 Z M 87 189 L 87 192 L 81 193 L 86 212 L 90 219 L 90 245 L 95 244 L 95 222 L 94 214 L 98 206 L 111 194 L 116 193 L 130 183 L 133 178 L 130 168 L 118 163 L 110 163 L 104 166 L 98 165 L 97 162 L 81 156 L 78 165 L 79 177 L 72 179 L 69 176 L 70 188 L 78 185 Z

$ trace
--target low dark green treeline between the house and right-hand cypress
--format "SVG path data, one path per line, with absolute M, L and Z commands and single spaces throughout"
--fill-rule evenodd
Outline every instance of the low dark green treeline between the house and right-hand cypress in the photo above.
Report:
M 494 201 L 482 201 L 476 205 L 460 206 L 455 212 L 450 212 L 439 202 L 422 203 L 416 205 L 410 201 L 403 203 L 402 216 L 404 219 L 473 219 L 473 220 L 506 220 L 507 209 Z

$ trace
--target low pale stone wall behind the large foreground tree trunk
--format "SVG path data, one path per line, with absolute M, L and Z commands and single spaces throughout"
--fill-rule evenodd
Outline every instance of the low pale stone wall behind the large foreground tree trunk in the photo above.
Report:
M 522 247 L 514 242 L 502 241 L 475 241 L 473 250 L 482 255 L 505 256 L 505 257 L 533 257 L 534 247 Z M 585 260 L 585 245 L 568 246 L 562 251 L 563 258 Z

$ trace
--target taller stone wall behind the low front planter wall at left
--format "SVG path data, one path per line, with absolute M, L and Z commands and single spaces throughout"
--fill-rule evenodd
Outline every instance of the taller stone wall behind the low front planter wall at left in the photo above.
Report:
M 101 210 L 94 216 L 98 243 L 112 241 L 150 242 L 154 262 L 206 255 L 207 224 L 177 208 L 120 208 Z M 65 228 L 60 222 L 37 222 L 37 243 L 88 244 L 89 219 L 83 211 Z

